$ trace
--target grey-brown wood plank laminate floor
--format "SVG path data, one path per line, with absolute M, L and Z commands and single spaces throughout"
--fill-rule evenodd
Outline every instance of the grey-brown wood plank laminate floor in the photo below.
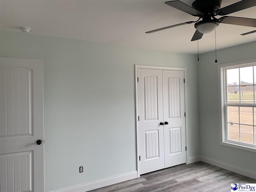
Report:
M 147 173 L 90 192 L 230 192 L 231 183 L 256 183 L 256 180 L 196 162 Z

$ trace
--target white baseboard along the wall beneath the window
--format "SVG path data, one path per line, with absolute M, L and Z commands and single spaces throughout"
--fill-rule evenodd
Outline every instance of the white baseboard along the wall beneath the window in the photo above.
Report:
M 223 163 L 218 160 L 214 160 L 214 159 L 204 157 L 204 156 L 201 156 L 201 161 L 211 164 L 211 165 L 214 165 L 214 166 L 217 166 L 217 167 L 220 167 L 220 168 L 223 168 L 223 169 L 226 169 L 226 170 L 229 170 L 229 171 L 232 171 L 232 172 L 235 172 L 235 173 L 238 173 L 240 175 L 244 175 L 246 177 L 256 179 L 256 172 L 252 172 L 252 171 L 246 170 L 244 168 L 240 168 L 240 167 L 237 167 L 234 165 Z

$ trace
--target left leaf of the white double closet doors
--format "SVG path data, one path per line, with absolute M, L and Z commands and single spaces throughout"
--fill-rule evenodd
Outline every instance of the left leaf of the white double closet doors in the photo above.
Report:
M 140 174 L 164 168 L 162 70 L 138 69 Z

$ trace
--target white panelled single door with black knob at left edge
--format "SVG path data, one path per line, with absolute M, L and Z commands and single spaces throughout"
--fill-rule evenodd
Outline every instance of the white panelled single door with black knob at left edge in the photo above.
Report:
M 0 58 L 1 192 L 44 191 L 43 140 L 42 60 Z

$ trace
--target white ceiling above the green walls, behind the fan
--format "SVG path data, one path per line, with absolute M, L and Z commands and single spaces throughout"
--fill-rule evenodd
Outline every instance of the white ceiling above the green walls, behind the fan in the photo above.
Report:
M 145 34 L 146 31 L 197 20 L 164 4 L 166 0 L 0 0 L 1 30 L 32 28 L 32 34 L 56 36 L 153 50 L 197 54 L 191 42 L 194 24 Z M 191 6 L 193 0 L 182 0 Z M 222 0 L 222 7 L 239 0 Z M 256 7 L 229 16 L 256 18 Z M 217 49 L 256 41 L 252 27 L 220 24 Z M 214 32 L 199 40 L 199 53 L 215 49 Z

